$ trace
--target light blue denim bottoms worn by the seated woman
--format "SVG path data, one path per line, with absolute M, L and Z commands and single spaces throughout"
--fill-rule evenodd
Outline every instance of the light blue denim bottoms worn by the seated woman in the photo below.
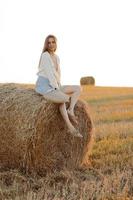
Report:
M 39 94 L 47 94 L 55 90 L 49 83 L 49 80 L 43 76 L 38 76 L 36 84 L 35 84 L 35 91 Z

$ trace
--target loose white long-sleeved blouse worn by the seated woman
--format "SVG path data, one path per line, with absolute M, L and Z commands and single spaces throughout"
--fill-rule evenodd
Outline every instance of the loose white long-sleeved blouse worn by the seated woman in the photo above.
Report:
M 47 78 L 50 82 L 50 85 L 53 88 L 59 88 L 60 84 L 60 60 L 59 57 L 56 55 L 57 58 L 57 64 L 58 64 L 58 70 L 55 69 L 53 60 L 50 56 L 50 54 L 45 51 L 41 54 L 40 58 L 40 64 L 38 67 L 38 76 L 43 76 Z

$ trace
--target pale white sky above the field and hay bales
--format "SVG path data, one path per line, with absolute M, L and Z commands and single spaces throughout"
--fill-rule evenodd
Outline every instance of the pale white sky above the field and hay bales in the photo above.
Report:
M 1 0 L 0 83 L 35 84 L 49 34 L 62 84 L 133 86 L 133 0 Z

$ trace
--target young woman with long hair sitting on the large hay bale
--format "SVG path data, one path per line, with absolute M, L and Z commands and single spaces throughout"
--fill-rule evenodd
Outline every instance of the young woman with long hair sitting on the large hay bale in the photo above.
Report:
M 59 57 L 55 54 L 56 49 L 56 37 L 54 35 L 48 35 L 45 39 L 39 61 L 35 91 L 43 95 L 44 98 L 58 103 L 60 113 L 67 124 L 69 132 L 73 136 L 82 137 L 71 123 L 71 121 L 75 124 L 78 123 L 74 115 L 74 106 L 80 95 L 81 88 L 77 85 L 61 86 L 60 61 Z M 70 102 L 68 109 L 66 109 L 66 102 Z

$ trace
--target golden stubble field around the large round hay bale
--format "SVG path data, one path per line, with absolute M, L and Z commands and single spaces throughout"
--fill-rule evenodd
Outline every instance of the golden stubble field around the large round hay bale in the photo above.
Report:
M 46 177 L 0 172 L 0 199 L 133 199 L 133 88 L 84 86 L 95 126 L 91 166 Z

